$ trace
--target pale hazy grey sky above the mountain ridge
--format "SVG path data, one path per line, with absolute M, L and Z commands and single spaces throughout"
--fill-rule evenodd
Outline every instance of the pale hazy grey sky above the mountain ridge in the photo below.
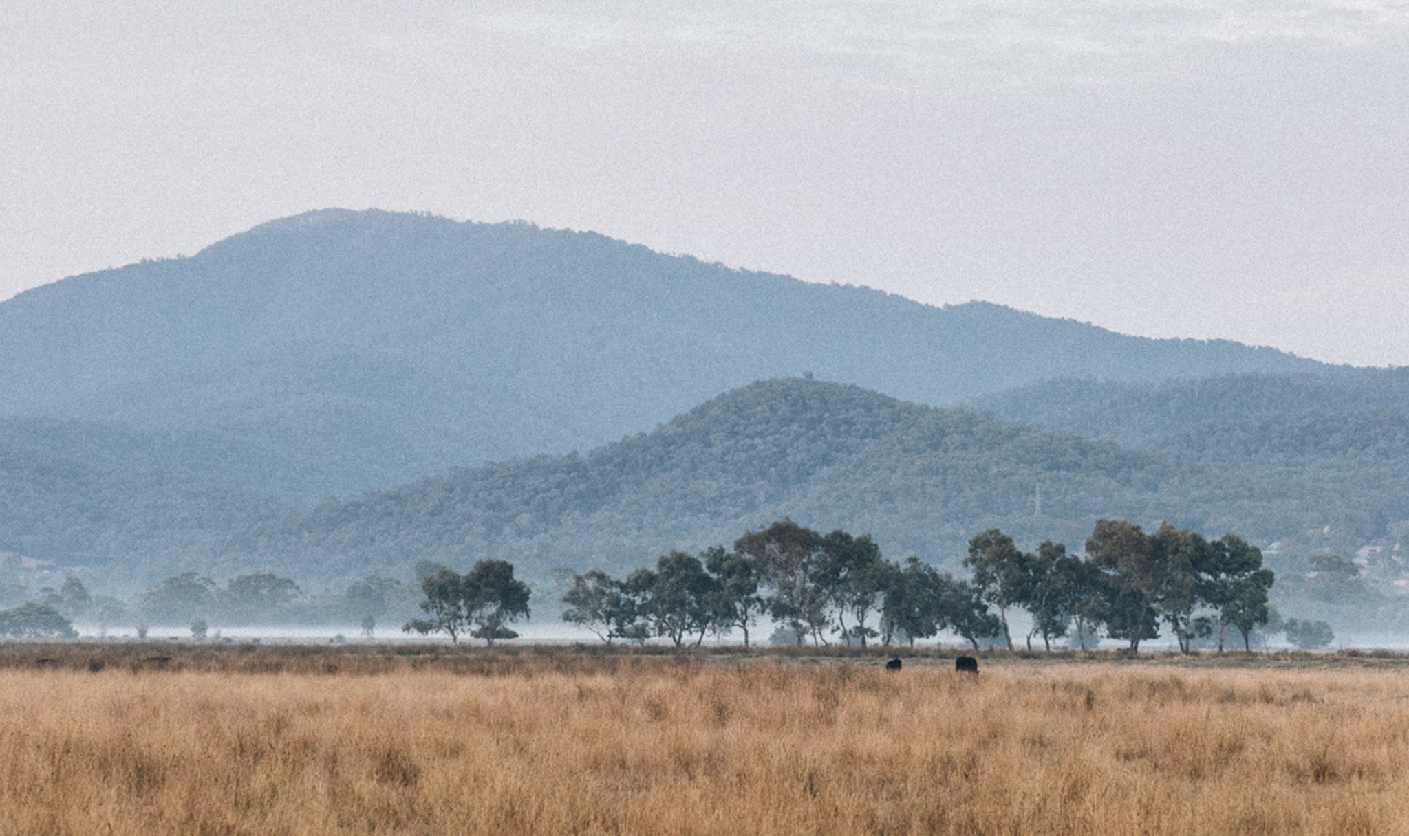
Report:
M 15 0 L 0 298 L 310 208 L 1409 365 L 1409 3 Z

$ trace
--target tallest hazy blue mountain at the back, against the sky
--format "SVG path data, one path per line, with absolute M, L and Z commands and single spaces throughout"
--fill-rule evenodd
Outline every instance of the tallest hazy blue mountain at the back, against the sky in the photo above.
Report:
M 237 460 L 238 487 L 303 502 L 589 449 L 779 374 L 943 405 L 1048 377 L 1326 370 L 589 232 L 380 211 L 285 218 L 0 303 L 0 417 L 147 439 L 96 453 L 141 470 L 204 479 Z

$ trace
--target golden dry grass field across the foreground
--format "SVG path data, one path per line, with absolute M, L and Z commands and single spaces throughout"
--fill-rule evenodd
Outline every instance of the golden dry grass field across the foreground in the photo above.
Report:
M 165 652 L 0 649 L 0 833 L 1409 832 L 1402 664 Z

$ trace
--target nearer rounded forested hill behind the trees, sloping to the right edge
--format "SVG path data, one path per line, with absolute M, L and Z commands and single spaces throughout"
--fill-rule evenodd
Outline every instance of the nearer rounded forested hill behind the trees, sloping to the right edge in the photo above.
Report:
M 1385 426 L 1343 428 L 1324 460 L 1305 462 L 1265 456 L 1250 446 L 1258 432 L 1137 452 L 852 386 L 769 380 L 588 455 L 457 470 L 328 504 L 232 540 L 221 560 L 364 573 L 495 556 L 541 581 L 554 567 L 619 571 L 785 517 L 872 533 L 886 555 L 941 564 L 989 526 L 1075 546 L 1099 518 L 1168 519 L 1271 543 L 1327 528 L 1364 538 L 1409 518 L 1405 479 L 1364 479 L 1360 464 L 1378 467 L 1381 453 L 1351 452 L 1357 433 L 1381 438 Z M 1306 432 L 1320 431 L 1308 422 Z M 1409 473 L 1409 446 L 1388 443 L 1384 467 Z M 1344 466 L 1337 446 L 1350 455 Z

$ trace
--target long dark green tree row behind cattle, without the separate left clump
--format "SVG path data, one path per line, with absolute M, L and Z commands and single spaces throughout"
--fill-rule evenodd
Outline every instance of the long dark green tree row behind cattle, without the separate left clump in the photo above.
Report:
M 1169 524 L 1147 533 L 1129 521 L 1099 521 L 1084 555 L 1051 540 L 1023 552 L 991 528 L 969 540 L 964 566 L 971 578 L 917 557 L 886 560 L 869 535 L 823 535 L 785 519 L 745 533 L 733 549 L 671 552 L 655 569 L 624 578 L 596 569 L 573 574 L 562 619 L 607 643 L 699 645 L 737 628 L 747 646 L 750 628 L 766 615 L 799 646 L 833 638 L 913 645 L 950 631 L 974 647 L 1013 649 L 1010 615 L 1026 611 L 1027 649 L 1040 638 L 1050 650 L 1072 633 L 1085 649 L 1105 632 L 1138 650 L 1162 625 L 1188 653 L 1213 636 L 1222 650 L 1229 626 L 1251 649 L 1251 633 L 1271 616 L 1274 576 L 1257 547 L 1237 535 L 1210 540 Z

